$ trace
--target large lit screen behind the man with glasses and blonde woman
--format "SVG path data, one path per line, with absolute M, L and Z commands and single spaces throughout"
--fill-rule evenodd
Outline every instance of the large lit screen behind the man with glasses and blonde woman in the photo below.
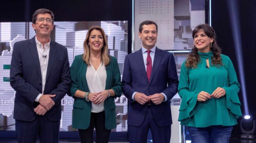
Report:
M 0 23 L 0 130 L 14 131 L 13 108 L 15 91 L 10 85 L 10 65 L 15 42 L 32 38 L 36 35 L 31 22 Z M 86 21 L 54 22 L 51 40 L 68 49 L 71 66 L 76 55 L 83 54 L 83 43 L 91 26 L 101 26 L 107 35 L 108 54 L 117 58 L 121 76 L 124 58 L 128 50 L 127 21 Z M 72 128 L 72 110 L 74 99 L 68 95 L 61 101 L 62 119 L 60 131 L 74 131 Z M 127 131 L 127 99 L 122 95 L 115 99 L 117 128 L 116 132 Z

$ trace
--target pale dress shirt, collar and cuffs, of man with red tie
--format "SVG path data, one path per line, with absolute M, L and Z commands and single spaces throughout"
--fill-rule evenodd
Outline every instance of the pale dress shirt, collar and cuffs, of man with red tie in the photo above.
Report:
M 142 48 L 141 48 L 141 50 L 142 50 L 142 56 L 143 56 L 143 62 L 144 62 L 144 65 L 145 65 L 145 71 L 147 72 L 147 57 L 148 57 L 148 50 L 147 49 L 145 49 L 143 46 L 142 46 Z M 153 67 L 153 63 L 154 63 L 154 58 L 155 58 L 155 52 L 156 52 L 156 46 L 154 46 L 152 49 L 150 49 L 150 53 L 149 53 L 149 56 L 151 57 L 151 61 L 152 61 L 152 67 Z M 134 95 L 136 94 L 137 92 L 134 92 L 133 94 L 132 94 L 132 99 L 133 100 L 135 100 L 134 99 Z M 166 101 L 167 100 L 167 96 L 164 94 L 164 93 L 161 93 L 161 94 L 163 94 L 164 95 L 164 101 Z

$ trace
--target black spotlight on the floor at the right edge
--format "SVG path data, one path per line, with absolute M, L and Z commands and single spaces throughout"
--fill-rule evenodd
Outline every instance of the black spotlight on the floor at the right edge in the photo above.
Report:
M 240 121 L 240 129 L 242 131 L 241 138 L 254 139 L 256 137 L 254 135 L 256 129 L 256 122 L 252 119 L 250 115 L 245 115 Z

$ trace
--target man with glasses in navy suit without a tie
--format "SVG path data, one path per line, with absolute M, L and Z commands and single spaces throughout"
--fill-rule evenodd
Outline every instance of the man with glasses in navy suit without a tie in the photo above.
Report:
M 18 143 L 58 143 L 61 99 L 71 82 L 68 51 L 50 39 L 54 16 L 38 9 L 32 17 L 36 36 L 13 47 L 10 84 L 16 91 L 14 115 Z

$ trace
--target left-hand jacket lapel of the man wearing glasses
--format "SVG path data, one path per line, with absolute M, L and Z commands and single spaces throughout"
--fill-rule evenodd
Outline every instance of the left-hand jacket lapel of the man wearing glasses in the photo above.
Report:
M 39 77 L 42 81 L 42 74 L 41 74 L 41 67 L 40 67 L 40 62 L 39 62 L 39 57 L 38 57 L 38 52 L 37 52 L 37 47 L 36 47 L 36 39 L 35 37 L 31 38 L 29 40 L 29 44 L 28 44 L 28 47 L 30 49 L 30 52 L 32 54 L 32 57 L 34 58 L 34 62 L 36 64 L 36 69 L 37 69 L 37 72 L 39 74 Z

